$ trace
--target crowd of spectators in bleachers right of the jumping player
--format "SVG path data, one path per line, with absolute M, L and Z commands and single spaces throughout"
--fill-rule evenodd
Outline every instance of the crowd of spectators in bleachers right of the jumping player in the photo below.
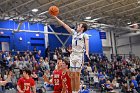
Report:
M 138 57 L 116 57 L 112 61 L 97 55 L 91 55 L 89 64 L 82 73 L 88 76 L 85 81 L 93 80 L 94 88 L 101 92 L 121 89 L 123 93 L 140 93 L 140 60 Z

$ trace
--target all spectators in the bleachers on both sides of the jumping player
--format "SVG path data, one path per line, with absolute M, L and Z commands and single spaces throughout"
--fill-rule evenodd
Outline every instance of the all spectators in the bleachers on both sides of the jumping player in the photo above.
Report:
M 64 54 L 66 53 L 66 55 Z M 69 57 L 71 46 L 68 48 L 56 48 L 53 58 L 41 56 L 41 51 L 25 51 L 12 54 L 12 52 L 0 52 L 1 74 L 0 80 L 5 80 L 8 69 L 14 70 L 14 75 L 4 89 L 16 88 L 17 79 L 24 67 L 32 71 L 32 77 L 38 82 L 43 73 L 52 73 L 55 69 L 57 56 Z M 49 59 L 48 59 L 49 58 Z M 121 89 L 123 93 L 140 93 L 140 59 L 138 57 L 116 57 L 109 61 L 106 56 L 91 55 L 89 63 L 85 63 L 81 70 L 81 82 L 91 89 L 99 89 L 101 92 Z M 86 84 L 87 83 L 87 84 Z M 93 87 L 92 87 L 93 86 Z M 81 87 L 81 90 L 86 88 Z

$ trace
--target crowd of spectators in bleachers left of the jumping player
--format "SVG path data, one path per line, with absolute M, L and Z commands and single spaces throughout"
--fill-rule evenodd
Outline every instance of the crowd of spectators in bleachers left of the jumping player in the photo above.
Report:
M 22 75 L 23 68 L 29 68 L 32 71 L 31 76 L 35 81 L 38 81 L 39 77 L 42 77 L 44 73 L 51 75 L 55 69 L 57 57 L 69 56 L 69 52 L 70 46 L 66 49 L 63 47 L 56 48 L 53 58 L 50 59 L 49 49 L 45 51 L 45 57 L 42 57 L 41 51 L 37 51 L 36 48 L 32 52 L 28 50 L 17 52 L 0 51 L 0 80 L 6 79 L 9 70 L 13 70 L 14 73 L 9 83 L 4 87 L 0 86 L 0 93 L 5 89 L 16 88 L 16 83 Z

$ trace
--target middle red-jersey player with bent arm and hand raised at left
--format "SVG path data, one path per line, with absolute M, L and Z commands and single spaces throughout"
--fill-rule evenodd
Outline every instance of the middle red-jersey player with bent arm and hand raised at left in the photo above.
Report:
M 54 85 L 54 92 L 53 93 L 61 93 L 62 91 L 62 58 L 57 59 L 57 68 L 53 71 L 53 78 L 52 82 L 46 77 L 43 76 L 44 81 Z

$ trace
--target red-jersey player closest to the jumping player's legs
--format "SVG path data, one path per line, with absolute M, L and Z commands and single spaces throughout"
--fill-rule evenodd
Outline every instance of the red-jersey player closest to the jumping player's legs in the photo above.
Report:
M 62 93 L 72 93 L 72 87 L 71 87 L 71 77 L 70 77 L 70 62 L 68 59 L 63 59 L 62 63 L 62 68 L 63 68 L 63 73 L 62 73 Z

